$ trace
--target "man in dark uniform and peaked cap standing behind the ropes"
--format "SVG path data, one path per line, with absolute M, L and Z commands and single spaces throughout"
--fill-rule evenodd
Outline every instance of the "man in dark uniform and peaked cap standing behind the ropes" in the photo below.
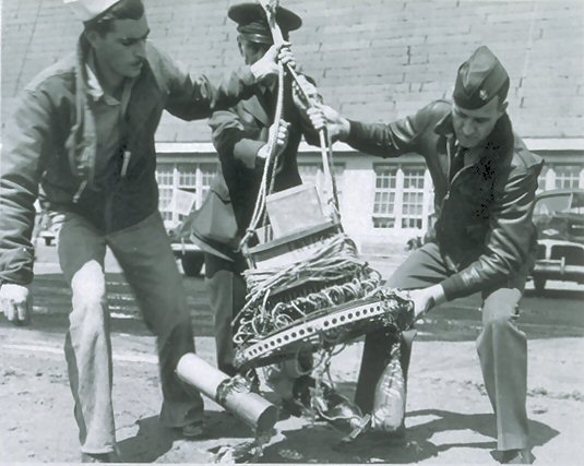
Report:
M 233 5 L 228 10 L 228 16 L 237 24 L 239 52 L 245 63 L 251 65 L 273 44 L 265 13 L 260 4 L 246 2 Z M 302 24 L 297 14 L 282 7 L 276 10 L 276 21 L 284 39 L 288 38 L 290 31 Z M 306 80 L 303 76 L 301 79 Z M 221 162 L 219 172 L 211 184 L 202 212 L 198 213 L 194 235 L 200 238 L 201 246 L 206 251 L 205 283 L 215 318 L 217 362 L 219 369 L 228 374 L 236 373 L 233 366 L 231 322 L 246 303 L 242 272 L 247 264 L 239 251 L 239 242 L 253 214 L 267 155 L 269 134 L 275 129 L 277 87 L 275 77 L 271 82 L 265 81 L 253 96 L 228 110 L 215 111 L 210 119 L 213 144 Z M 309 143 L 318 144 L 318 135 L 310 121 L 299 112 L 293 100 L 291 81 L 286 75 L 284 110 L 277 135 L 279 155 L 274 191 L 301 184 L 297 152 L 302 136 Z M 215 229 L 202 222 L 204 218 L 219 216 L 223 222 L 217 222 Z M 233 225 L 233 228 L 226 228 L 226 225 Z M 310 355 L 301 357 L 300 365 L 305 371 L 310 369 Z M 291 371 L 293 367 L 297 367 L 296 361 L 283 370 L 271 367 L 267 381 L 285 398 L 284 403 L 297 414 L 291 390 L 298 374 Z

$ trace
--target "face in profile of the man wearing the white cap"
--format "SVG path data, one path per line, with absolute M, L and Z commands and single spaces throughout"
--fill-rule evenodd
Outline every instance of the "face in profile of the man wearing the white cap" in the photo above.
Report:
M 92 32 L 88 39 L 95 50 L 99 71 L 114 79 L 136 77 L 146 58 L 148 22 L 114 20 L 112 29 L 104 36 Z

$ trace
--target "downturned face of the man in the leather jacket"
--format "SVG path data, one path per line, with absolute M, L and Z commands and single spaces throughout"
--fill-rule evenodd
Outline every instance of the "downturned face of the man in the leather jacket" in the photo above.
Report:
M 482 144 L 492 132 L 497 120 L 505 112 L 505 109 L 506 103 L 501 105 L 498 96 L 474 110 L 462 108 L 454 104 L 452 123 L 458 143 L 467 148 Z

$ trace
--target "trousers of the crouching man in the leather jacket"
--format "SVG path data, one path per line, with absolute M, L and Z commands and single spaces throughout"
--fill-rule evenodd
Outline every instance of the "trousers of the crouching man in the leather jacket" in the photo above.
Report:
M 527 270 L 527 266 L 525 267 Z M 388 282 L 390 288 L 417 289 L 436 285 L 451 275 L 440 249 L 434 243 L 414 251 Z M 527 273 L 510 276 L 497 287 L 482 291 L 482 330 L 477 351 L 497 417 L 498 449 L 527 447 L 527 338 L 516 326 L 519 302 Z M 416 331 L 404 332 L 402 368 L 407 378 L 412 344 Z M 385 368 L 380 358 L 393 342 L 384 332 L 367 335 L 357 383 L 356 402 L 363 411 L 371 411 L 376 383 Z

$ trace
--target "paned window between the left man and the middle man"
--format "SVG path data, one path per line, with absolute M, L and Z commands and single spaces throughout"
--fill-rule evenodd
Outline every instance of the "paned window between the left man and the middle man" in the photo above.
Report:
M 156 181 L 159 189 L 158 208 L 163 218 L 169 223 L 180 222 L 180 215 L 172 212 L 172 191 L 175 189 L 195 194 L 194 205 L 199 208 L 216 172 L 217 164 L 214 163 L 158 163 Z

